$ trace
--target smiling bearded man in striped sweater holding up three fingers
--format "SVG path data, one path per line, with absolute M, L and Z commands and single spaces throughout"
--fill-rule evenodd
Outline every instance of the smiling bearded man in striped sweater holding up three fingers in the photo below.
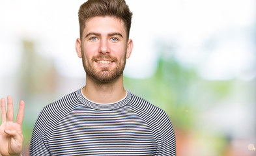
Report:
M 125 1 L 89 0 L 78 15 L 76 52 L 83 60 L 86 85 L 44 107 L 35 123 L 30 155 L 176 155 L 167 114 L 123 86 L 122 72 L 133 48 L 128 39 L 132 12 Z M 20 107 L 21 120 L 23 101 Z M 6 135 L 18 140 L 19 126 L 7 128 L 15 135 L 7 130 Z M 5 149 L 19 155 L 21 141 Z

